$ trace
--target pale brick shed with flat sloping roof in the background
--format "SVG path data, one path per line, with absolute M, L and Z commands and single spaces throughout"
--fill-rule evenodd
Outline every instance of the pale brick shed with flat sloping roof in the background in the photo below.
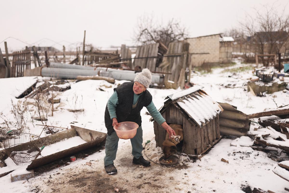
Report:
M 190 44 L 192 66 L 201 66 L 204 63 L 230 63 L 232 60 L 232 37 L 223 37 L 221 34 L 187 38 Z

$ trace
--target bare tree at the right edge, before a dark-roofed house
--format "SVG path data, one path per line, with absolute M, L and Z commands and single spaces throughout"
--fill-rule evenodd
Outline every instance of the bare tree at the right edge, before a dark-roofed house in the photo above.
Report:
M 241 23 L 249 36 L 249 43 L 256 54 L 277 54 L 281 52 L 289 37 L 289 14 L 278 12 L 274 6 L 263 6 L 263 12 L 256 10 L 256 16 L 247 14 Z M 268 65 L 269 60 L 263 64 Z

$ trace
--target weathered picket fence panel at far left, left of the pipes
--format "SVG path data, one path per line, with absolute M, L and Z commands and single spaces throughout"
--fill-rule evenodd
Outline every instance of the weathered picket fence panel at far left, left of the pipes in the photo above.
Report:
M 12 56 L 10 77 L 21 77 L 24 70 L 31 68 L 31 52 L 26 50 L 13 52 Z

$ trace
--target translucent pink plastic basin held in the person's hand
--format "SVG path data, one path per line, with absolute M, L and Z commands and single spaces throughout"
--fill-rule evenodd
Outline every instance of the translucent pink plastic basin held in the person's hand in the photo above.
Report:
M 131 139 L 136 135 L 136 130 L 138 128 L 138 124 L 135 122 L 125 121 L 118 123 L 119 126 L 115 125 L 113 128 L 116 132 L 116 135 L 120 139 Z

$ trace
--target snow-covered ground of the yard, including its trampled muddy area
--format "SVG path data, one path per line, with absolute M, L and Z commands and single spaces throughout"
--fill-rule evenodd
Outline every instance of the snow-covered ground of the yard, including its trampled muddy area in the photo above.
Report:
M 244 66 L 247 65 L 238 63 L 228 68 Z M 247 86 L 244 85 L 249 78 L 256 78 L 252 70 L 236 74 L 223 72 L 223 70 L 217 68 L 213 73 L 205 75 L 193 73 L 191 82 L 203 86 L 203 90 L 215 101 L 237 106 L 238 110 L 246 114 L 289 104 L 289 91 L 266 94 L 264 97 L 256 97 L 247 92 Z M 36 78 L 42 80 L 42 77 L 0 79 L 2 91 L 0 112 L 3 112 L 9 120 L 13 121 L 13 115 L 10 112 L 11 100 L 14 104 L 25 102 L 24 98 L 16 99 L 15 97 L 31 86 Z M 125 81 L 116 81 L 115 84 L 103 80 L 69 82 L 71 89 L 58 96 L 61 104 L 58 108 L 55 107 L 53 117 L 51 113 L 48 113 L 47 125 L 70 128 L 70 125 L 74 123 L 75 126 L 106 133 L 104 124 L 106 102 L 112 95 L 113 88 L 123 82 Z M 225 87 L 226 85 L 235 88 Z M 162 106 L 166 96 L 180 91 L 180 89 L 152 88 L 148 90 L 153 95 L 153 102 L 157 108 Z M 84 109 L 84 111 L 73 113 L 68 109 Z M 146 111 L 145 108 L 141 111 L 143 142 L 147 140 L 151 142 L 145 145 L 143 154 L 145 154 L 144 158 L 157 163 L 163 154 L 161 148 L 155 147 L 153 123 L 149 122 L 150 116 L 145 114 Z M 35 113 L 33 109 L 30 112 Z M 257 122 L 257 119 L 254 121 Z M 2 122 L 0 119 L 0 126 L 4 127 L 5 124 Z M 32 123 L 31 115 L 27 113 L 29 132 L 39 135 L 43 127 L 36 124 L 42 124 L 42 122 L 34 120 Z M 257 127 L 259 125 L 252 122 L 251 130 Z M 47 135 L 49 134 L 42 132 L 41 137 Z M 132 164 L 130 140 L 120 139 L 114 162 L 118 169 L 116 175 L 105 173 L 103 150 L 29 180 L 11 182 L 10 174 L 8 174 L 0 178 L 0 192 L 114 192 L 114 188 L 118 188 L 119 192 L 243 192 L 242 188 L 244 189 L 247 185 L 252 189 L 286 192 L 284 188 L 289 188 L 289 182 L 272 172 L 278 162 L 269 158 L 268 153 L 240 146 L 244 141 L 250 143 L 248 138 L 244 141 L 234 140 L 233 137 L 224 137 L 201 160 L 193 161 L 185 155 L 178 155 L 181 164 L 177 167 L 166 168 L 151 163 L 150 167 L 144 168 Z M 231 142 L 236 146 L 230 146 Z M 62 141 L 59 146 L 64 146 L 64 144 L 66 142 Z M 53 147 L 44 148 L 43 155 L 48 155 L 48 151 L 52 152 L 52 150 Z M 284 157 L 284 160 L 288 160 L 288 155 L 280 150 L 275 153 L 279 157 Z M 228 160 L 229 163 L 222 162 L 222 158 Z M 89 161 L 92 166 L 86 164 Z M 7 167 L 0 168 L 0 174 L 10 170 L 21 172 L 26 167 L 16 166 L 10 158 L 6 159 L 5 163 Z

